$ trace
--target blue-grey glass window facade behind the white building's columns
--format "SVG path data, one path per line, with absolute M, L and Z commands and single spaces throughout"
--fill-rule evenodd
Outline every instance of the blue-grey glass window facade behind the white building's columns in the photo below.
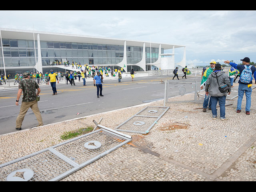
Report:
M 2 42 L 6 67 L 34 66 L 36 64 L 33 40 L 2 39 Z M 35 44 L 37 48 L 37 40 L 35 40 Z M 43 66 L 56 65 L 55 61 L 63 62 L 62 59 L 80 62 L 82 65 L 113 66 L 120 63 L 124 57 L 123 45 L 40 41 L 40 48 Z M 146 64 L 149 64 L 150 48 L 146 47 L 145 51 Z M 126 46 L 127 64 L 140 62 L 142 53 L 143 47 Z M 152 63 L 156 62 L 158 54 L 159 48 L 151 48 Z M 38 59 L 37 49 L 36 59 Z M 2 51 L 0 53 L 0 67 L 3 67 Z

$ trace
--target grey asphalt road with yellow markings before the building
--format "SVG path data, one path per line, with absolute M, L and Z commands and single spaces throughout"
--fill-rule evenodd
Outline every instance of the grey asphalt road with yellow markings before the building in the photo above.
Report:
M 38 107 L 46 125 L 148 103 L 164 98 L 164 83 L 160 82 L 166 78 L 136 77 L 133 82 L 131 78 L 122 78 L 121 83 L 118 80 L 104 80 L 104 96 L 100 98 L 97 98 L 96 87 L 89 81 L 86 82 L 87 86 L 83 86 L 82 81 L 76 83 L 76 86 L 56 84 L 57 95 L 52 95 L 51 86 L 41 86 Z M 168 79 L 170 78 L 172 77 Z M 21 102 L 19 106 L 15 105 L 17 92 L 18 90 L 0 92 L 0 134 L 18 131 L 15 126 Z M 36 116 L 29 109 L 22 123 L 22 130 L 37 125 Z

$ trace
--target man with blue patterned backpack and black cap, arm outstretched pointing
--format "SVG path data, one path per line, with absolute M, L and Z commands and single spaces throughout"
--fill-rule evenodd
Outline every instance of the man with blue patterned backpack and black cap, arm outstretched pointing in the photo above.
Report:
M 235 64 L 228 60 L 224 61 L 224 63 L 230 64 L 235 69 L 239 70 L 240 78 L 239 78 L 239 86 L 238 86 L 238 99 L 237 99 L 237 107 L 236 112 L 241 112 L 242 100 L 244 97 L 244 93 L 246 96 L 246 106 L 245 113 L 250 115 L 251 108 L 251 95 L 252 95 L 252 74 L 256 71 L 256 68 L 250 65 L 250 58 L 245 57 L 241 59 L 242 65 Z

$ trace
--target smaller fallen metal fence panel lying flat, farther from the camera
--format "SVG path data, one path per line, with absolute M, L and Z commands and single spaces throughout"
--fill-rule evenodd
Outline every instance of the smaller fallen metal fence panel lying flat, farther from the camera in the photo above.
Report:
M 117 131 L 147 134 L 170 107 L 147 106 L 115 128 Z

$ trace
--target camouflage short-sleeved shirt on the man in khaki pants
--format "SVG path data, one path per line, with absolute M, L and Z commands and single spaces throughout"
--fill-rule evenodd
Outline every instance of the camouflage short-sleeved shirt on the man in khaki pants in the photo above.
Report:
M 23 91 L 22 102 L 30 102 L 36 100 L 36 89 L 39 86 L 36 81 L 32 79 L 24 79 L 20 81 L 19 89 Z

